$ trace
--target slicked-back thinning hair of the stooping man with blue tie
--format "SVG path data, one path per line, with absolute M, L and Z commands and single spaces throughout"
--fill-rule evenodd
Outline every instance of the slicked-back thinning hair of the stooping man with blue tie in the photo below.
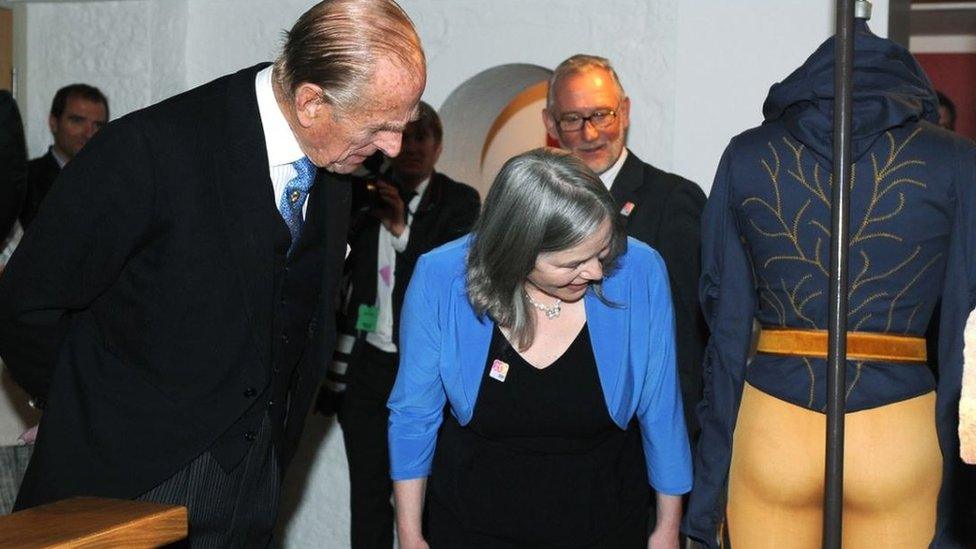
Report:
M 413 22 L 393 0 L 324 0 L 302 14 L 285 35 L 275 61 L 281 88 L 294 98 L 303 83 L 322 88 L 342 112 L 362 101 L 380 58 L 399 67 L 425 66 Z

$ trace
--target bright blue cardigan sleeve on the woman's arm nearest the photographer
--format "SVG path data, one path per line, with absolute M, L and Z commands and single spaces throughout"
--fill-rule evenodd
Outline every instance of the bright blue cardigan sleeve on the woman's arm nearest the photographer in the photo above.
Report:
M 439 363 L 441 315 L 428 258 L 421 256 L 401 313 L 400 368 L 390 394 L 390 469 L 393 480 L 430 474 L 447 396 Z M 443 294 L 446 288 L 439 288 Z

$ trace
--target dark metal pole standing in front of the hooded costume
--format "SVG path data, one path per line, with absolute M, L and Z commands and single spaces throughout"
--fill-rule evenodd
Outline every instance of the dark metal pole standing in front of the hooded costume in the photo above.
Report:
M 827 324 L 827 453 L 823 546 L 840 549 L 844 516 L 844 411 L 847 357 L 847 233 L 851 181 L 851 73 L 854 0 L 837 0 L 834 43 L 834 179 L 831 189 L 830 304 Z

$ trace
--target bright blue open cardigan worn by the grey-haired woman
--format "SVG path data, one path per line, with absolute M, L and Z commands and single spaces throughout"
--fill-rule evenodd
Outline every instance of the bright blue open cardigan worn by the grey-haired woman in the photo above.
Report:
M 430 474 L 444 405 L 458 423 L 474 414 L 494 322 L 479 317 L 465 284 L 470 237 L 420 258 L 400 321 L 400 370 L 390 395 L 394 480 Z M 586 318 L 607 409 L 621 429 L 637 417 L 647 474 L 660 493 L 691 490 L 691 457 L 675 375 L 674 319 L 664 262 L 630 239 L 617 269 L 592 290 Z

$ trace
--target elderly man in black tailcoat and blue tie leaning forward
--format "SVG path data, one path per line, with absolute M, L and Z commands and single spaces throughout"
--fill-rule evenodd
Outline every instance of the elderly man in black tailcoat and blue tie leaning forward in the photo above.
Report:
M 269 543 L 335 341 L 339 174 L 396 156 L 426 83 L 392 0 L 325 0 L 257 65 L 114 121 L 0 280 L 0 356 L 47 406 L 18 507 L 189 507 L 194 546 Z

